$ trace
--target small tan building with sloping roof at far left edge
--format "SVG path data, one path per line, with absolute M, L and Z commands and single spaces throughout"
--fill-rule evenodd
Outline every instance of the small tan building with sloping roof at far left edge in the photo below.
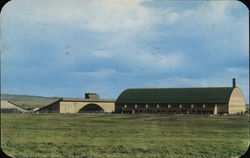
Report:
M 26 113 L 28 110 L 20 107 L 11 101 L 1 100 L 1 113 Z

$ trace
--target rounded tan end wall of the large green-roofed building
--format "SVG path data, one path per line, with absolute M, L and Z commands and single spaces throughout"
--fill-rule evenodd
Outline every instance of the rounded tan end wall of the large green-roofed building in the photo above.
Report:
M 246 110 L 245 99 L 239 88 L 234 88 L 228 106 L 229 114 L 243 113 Z

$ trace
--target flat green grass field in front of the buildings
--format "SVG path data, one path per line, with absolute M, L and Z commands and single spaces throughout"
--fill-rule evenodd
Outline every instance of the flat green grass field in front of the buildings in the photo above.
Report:
M 247 115 L 2 114 L 1 147 L 14 157 L 243 155 Z

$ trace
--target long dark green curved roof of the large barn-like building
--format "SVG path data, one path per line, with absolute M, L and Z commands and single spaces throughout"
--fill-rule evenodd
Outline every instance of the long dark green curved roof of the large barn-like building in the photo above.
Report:
M 131 88 L 123 91 L 116 104 L 129 103 L 228 103 L 233 87 Z

